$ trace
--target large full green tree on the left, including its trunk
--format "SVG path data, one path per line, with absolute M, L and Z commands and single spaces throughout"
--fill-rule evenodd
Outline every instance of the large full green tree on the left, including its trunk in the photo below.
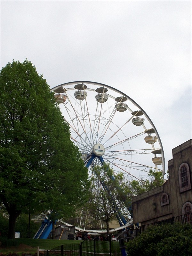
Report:
M 2 68 L 0 92 L 0 200 L 14 238 L 22 212 L 52 205 L 63 215 L 73 211 L 84 201 L 88 174 L 53 93 L 30 61 Z

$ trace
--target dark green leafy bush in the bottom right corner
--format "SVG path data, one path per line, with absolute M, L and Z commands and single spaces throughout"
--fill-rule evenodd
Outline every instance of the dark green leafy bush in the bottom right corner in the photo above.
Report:
M 180 223 L 150 227 L 128 242 L 131 256 L 188 256 L 192 252 L 192 225 Z

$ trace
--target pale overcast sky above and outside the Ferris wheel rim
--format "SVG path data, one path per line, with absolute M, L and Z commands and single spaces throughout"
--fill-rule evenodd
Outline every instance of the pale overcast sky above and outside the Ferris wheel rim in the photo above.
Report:
M 30 60 L 50 87 L 107 84 L 172 148 L 192 139 L 191 1 L 0 1 L 0 68 Z

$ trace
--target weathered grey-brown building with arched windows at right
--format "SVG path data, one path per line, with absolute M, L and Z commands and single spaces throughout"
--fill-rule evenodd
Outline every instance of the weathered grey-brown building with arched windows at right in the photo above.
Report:
M 133 222 L 148 225 L 192 212 L 192 140 L 172 149 L 169 179 L 132 198 Z

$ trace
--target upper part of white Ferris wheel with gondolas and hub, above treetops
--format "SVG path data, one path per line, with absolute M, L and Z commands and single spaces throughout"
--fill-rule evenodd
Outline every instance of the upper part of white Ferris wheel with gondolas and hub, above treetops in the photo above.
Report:
M 164 151 L 155 125 L 127 94 L 89 81 L 60 84 L 51 91 L 90 177 L 92 168 L 103 162 L 129 181 L 147 177 L 151 169 L 164 176 Z

